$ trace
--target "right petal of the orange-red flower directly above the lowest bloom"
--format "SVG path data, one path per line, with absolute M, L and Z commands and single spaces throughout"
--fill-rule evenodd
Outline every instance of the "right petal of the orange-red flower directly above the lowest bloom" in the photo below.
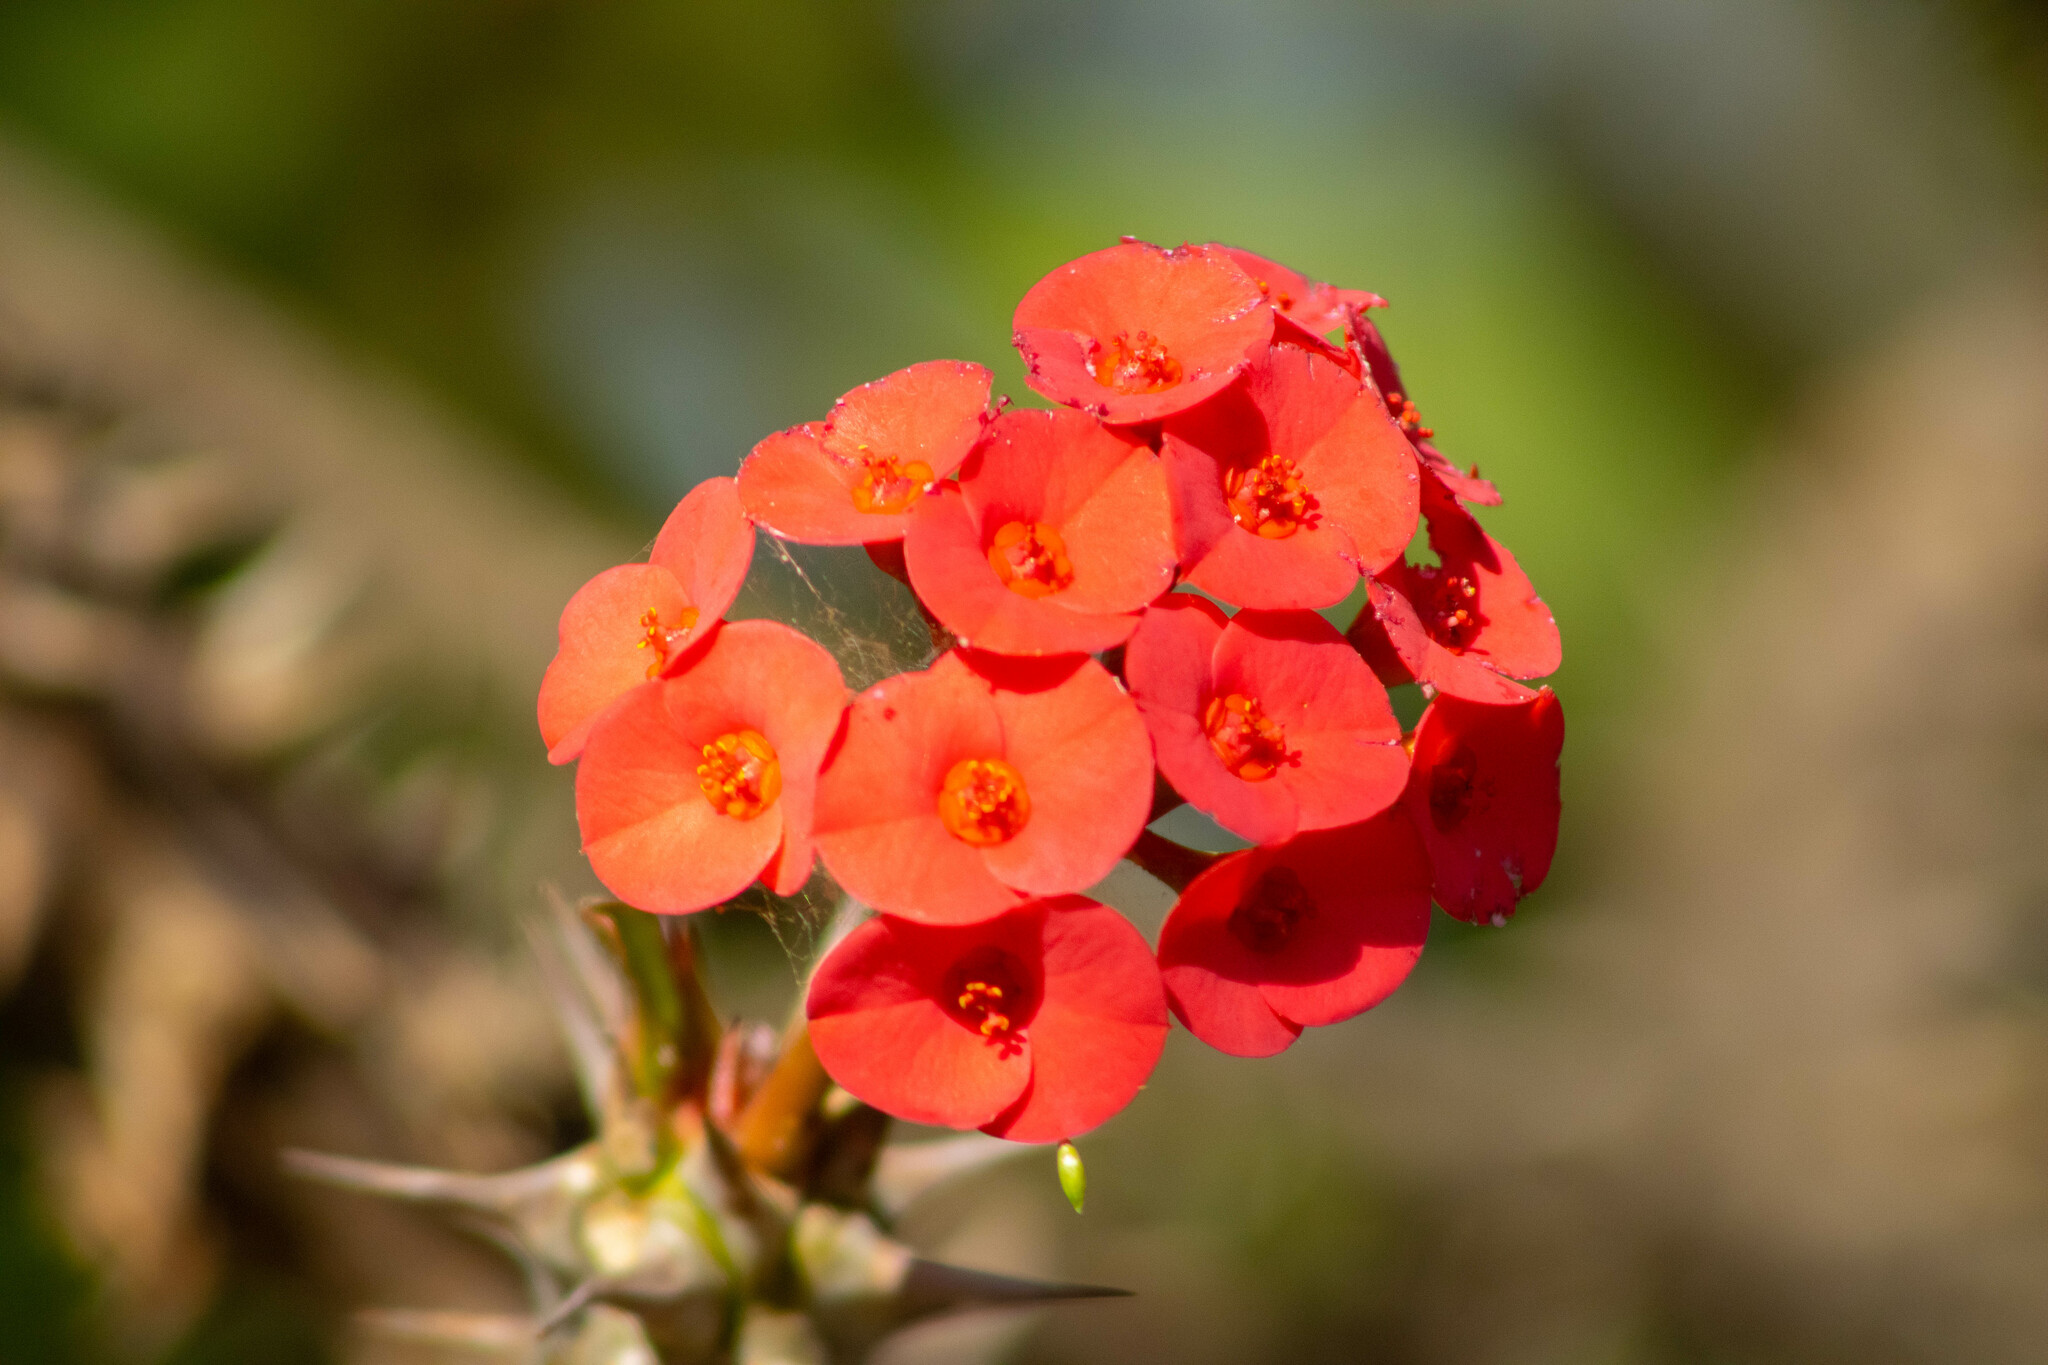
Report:
M 1030 819 L 983 860 L 1008 886 L 1038 896 L 1106 878 L 1151 810 L 1151 739 L 1137 704 L 1094 659 L 973 655 L 993 686 L 1004 757 L 1024 778 Z

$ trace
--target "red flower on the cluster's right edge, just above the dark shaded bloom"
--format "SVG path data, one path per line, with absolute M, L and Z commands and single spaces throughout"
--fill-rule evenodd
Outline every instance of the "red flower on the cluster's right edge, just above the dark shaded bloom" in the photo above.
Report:
M 1526 702 L 1513 677 L 1554 673 L 1556 618 L 1499 540 L 1432 477 L 1423 514 L 1436 565 L 1382 569 L 1350 639 L 1386 684 L 1419 681 L 1470 702 Z

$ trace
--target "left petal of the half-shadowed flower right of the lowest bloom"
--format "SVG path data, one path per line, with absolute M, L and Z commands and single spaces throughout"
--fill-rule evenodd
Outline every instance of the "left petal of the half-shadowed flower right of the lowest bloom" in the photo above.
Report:
M 1225 857 L 1188 886 L 1159 929 L 1159 976 L 1190 1033 L 1231 1056 L 1272 1056 L 1294 1046 L 1300 1025 L 1266 1003 L 1257 962 L 1229 931 L 1249 868 Z

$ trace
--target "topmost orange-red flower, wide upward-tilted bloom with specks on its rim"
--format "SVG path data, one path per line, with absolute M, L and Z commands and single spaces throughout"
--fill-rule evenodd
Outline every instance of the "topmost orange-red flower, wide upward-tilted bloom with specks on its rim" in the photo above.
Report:
M 1225 250 L 1126 239 L 1032 284 L 1014 340 L 1055 403 L 1155 422 L 1237 379 L 1272 334 L 1272 305 Z

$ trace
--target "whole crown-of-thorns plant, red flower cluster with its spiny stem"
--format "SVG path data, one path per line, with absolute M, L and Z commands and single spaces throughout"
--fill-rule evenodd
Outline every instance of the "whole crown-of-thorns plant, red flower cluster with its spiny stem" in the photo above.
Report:
M 1556 843 L 1563 712 L 1524 686 L 1556 624 L 1473 514 L 1493 483 L 1421 426 L 1380 303 L 1126 239 L 1018 305 L 1061 409 L 991 403 L 979 364 L 897 370 L 569 600 L 541 735 L 618 905 L 584 913 L 608 958 L 575 933 L 543 958 L 598 1138 L 502 1177 L 299 1156 L 483 1216 L 528 1267 L 524 1324 L 397 1326 L 549 1361 L 858 1361 L 932 1312 L 1100 1293 L 893 1242 L 907 1195 L 1004 1148 L 885 1148 L 889 1115 L 1057 1142 L 1079 1207 L 1071 1140 L 1169 1019 L 1270 1056 L 1386 999 L 1432 900 L 1505 923 Z M 928 667 L 848 696 L 803 632 L 725 622 L 758 530 L 866 546 Z M 1399 684 L 1430 700 L 1407 735 Z M 1182 802 L 1251 847 L 1149 829 Z M 1083 894 L 1118 860 L 1180 892 L 1157 948 Z M 797 894 L 817 862 L 852 915 L 799 1019 L 721 1033 L 688 921 L 653 917 Z

